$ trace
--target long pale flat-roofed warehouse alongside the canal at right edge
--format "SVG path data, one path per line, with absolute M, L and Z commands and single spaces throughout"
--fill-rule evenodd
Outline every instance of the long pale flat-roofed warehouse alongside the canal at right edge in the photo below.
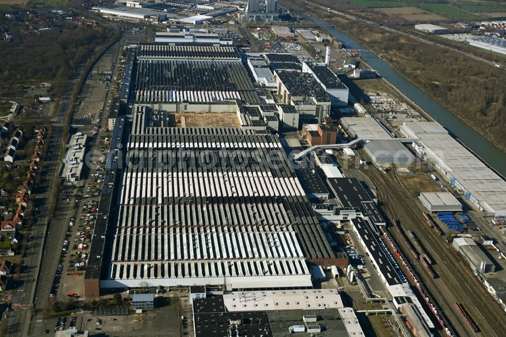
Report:
M 416 141 L 418 152 L 448 179 L 466 200 L 490 216 L 506 216 L 506 182 L 437 122 L 404 122 L 401 133 Z

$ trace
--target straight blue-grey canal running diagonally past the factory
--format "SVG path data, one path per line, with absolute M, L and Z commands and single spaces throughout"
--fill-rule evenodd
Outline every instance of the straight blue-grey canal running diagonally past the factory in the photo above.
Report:
M 300 15 L 305 16 L 307 19 L 313 21 L 319 26 L 325 26 L 325 29 L 332 34 L 335 38 L 343 41 L 343 43 L 351 49 L 367 49 L 355 41 L 350 35 L 339 31 L 335 28 L 329 27 L 328 24 L 313 16 L 308 17 L 305 13 L 297 11 Z M 452 112 L 444 106 L 433 100 L 430 96 L 413 85 L 410 81 L 404 78 L 401 74 L 395 71 L 388 63 L 374 55 L 367 53 L 367 64 L 377 70 L 383 77 L 390 83 L 397 87 L 404 95 L 415 102 L 418 106 L 424 109 L 429 115 L 436 119 L 443 127 L 445 127 L 455 137 L 473 151 L 475 151 L 483 160 L 489 165 L 494 167 L 503 176 L 506 176 L 506 154 L 495 146 L 492 142 L 476 132 L 468 124 L 460 120 Z

